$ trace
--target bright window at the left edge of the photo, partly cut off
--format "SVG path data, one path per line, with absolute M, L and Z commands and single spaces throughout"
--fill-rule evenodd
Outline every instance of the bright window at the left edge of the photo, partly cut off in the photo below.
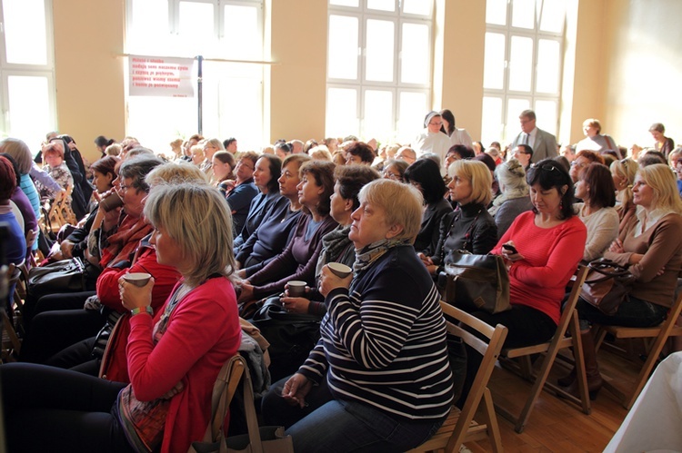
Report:
M 3 0 L 0 27 L 0 134 L 36 152 L 56 128 L 51 0 Z

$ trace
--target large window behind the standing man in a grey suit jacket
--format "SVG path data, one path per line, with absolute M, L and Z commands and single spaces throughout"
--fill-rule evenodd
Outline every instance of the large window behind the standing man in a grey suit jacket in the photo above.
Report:
M 566 0 L 486 0 L 483 143 L 509 143 L 518 114 L 557 133 Z

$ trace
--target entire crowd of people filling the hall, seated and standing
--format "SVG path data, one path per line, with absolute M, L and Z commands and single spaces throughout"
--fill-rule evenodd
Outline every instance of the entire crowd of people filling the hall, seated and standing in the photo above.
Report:
M 534 112 L 519 120 L 509 146 L 487 149 L 449 110 L 428 113 L 405 145 L 348 136 L 256 153 L 195 134 L 154 153 L 99 136 L 92 165 L 69 135 L 48 134 L 37 156 L 0 141 L 10 261 L 35 261 L 25 238 L 42 203 L 64 191 L 79 222 L 39 241 L 35 266 L 85 263 L 77 291 L 36 285 L 25 298 L 19 363 L 0 367 L 10 449 L 58 439 L 69 451 L 186 451 L 203 438 L 218 370 L 240 348 L 238 318 L 269 306 L 310 315 L 319 340 L 280 367 L 266 424 L 284 425 L 296 451 L 415 448 L 466 398 L 479 365 L 468 354 L 467 379 L 454 382 L 439 308 L 439 276 L 461 251 L 506 262 L 511 310 L 473 314 L 505 325 L 507 347 L 552 337 L 580 262 L 629 266 L 637 281 L 615 315 L 578 303 L 595 396 L 590 324 L 656 325 L 673 301 L 682 150 L 660 123 L 650 150 L 626 150 L 596 119 L 563 148 Z M 332 262 L 352 273 L 340 277 Z M 125 280 L 137 272 L 150 275 L 143 286 Z M 305 282 L 302 295 L 291 281 Z M 577 391 L 575 373 L 559 380 Z

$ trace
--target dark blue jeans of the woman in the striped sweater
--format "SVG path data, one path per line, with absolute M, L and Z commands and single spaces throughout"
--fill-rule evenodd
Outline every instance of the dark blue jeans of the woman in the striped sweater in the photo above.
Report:
M 285 425 L 296 453 L 406 451 L 426 442 L 445 421 L 398 419 L 367 404 L 334 399 L 326 384 L 313 387 L 308 406 L 300 409 L 281 398 L 285 382 L 280 380 L 267 393 L 263 416 L 267 425 Z

